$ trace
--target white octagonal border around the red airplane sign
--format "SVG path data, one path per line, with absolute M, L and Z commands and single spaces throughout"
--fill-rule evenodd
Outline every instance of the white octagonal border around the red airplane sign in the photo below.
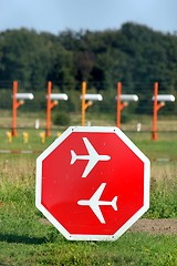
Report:
M 42 161 L 53 152 L 72 132 L 115 133 L 144 162 L 144 206 L 135 213 L 114 235 L 73 235 L 70 234 L 42 205 Z M 143 152 L 115 126 L 70 126 L 37 158 L 35 206 L 43 215 L 70 241 L 116 241 L 122 236 L 149 207 L 150 162 Z

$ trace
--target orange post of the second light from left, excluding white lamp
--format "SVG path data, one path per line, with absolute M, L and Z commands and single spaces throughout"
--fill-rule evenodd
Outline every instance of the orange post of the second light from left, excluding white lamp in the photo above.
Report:
M 45 136 L 51 136 L 51 110 L 58 105 L 56 101 L 51 101 L 51 91 L 52 91 L 52 82 L 48 82 L 48 96 L 46 96 L 46 130 Z

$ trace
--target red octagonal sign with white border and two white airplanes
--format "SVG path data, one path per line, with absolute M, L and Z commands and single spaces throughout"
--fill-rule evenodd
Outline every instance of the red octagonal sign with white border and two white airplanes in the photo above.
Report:
M 71 126 L 37 160 L 35 205 L 67 239 L 114 241 L 149 207 L 149 167 L 117 127 Z

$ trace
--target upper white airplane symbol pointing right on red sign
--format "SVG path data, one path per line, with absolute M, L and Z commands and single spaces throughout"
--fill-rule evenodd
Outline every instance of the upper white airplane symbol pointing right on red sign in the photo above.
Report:
M 92 146 L 91 142 L 83 137 L 86 150 L 88 152 L 87 155 L 76 155 L 75 152 L 71 151 L 71 164 L 74 164 L 76 160 L 88 160 L 88 163 L 82 174 L 82 177 L 86 177 L 88 173 L 93 170 L 93 167 L 97 164 L 98 161 L 108 161 L 111 156 L 108 155 L 100 155 L 95 149 Z

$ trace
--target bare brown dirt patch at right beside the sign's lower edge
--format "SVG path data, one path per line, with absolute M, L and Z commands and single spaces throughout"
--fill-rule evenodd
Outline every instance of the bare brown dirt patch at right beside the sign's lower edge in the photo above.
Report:
M 129 232 L 147 232 L 149 234 L 177 235 L 177 219 L 138 219 L 129 229 Z

